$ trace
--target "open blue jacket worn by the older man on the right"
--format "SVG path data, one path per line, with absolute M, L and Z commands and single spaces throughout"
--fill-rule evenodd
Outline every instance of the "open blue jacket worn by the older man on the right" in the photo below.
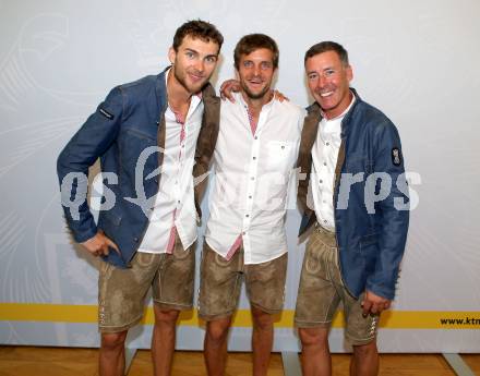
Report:
M 355 89 L 351 90 L 356 102 L 341 122 L 341 145 L 334 183 L 340 271 L 351 295 L 358 298 L 370 290 L 393 300 L 409 220 L 400 138 L 384 113 L 361 100 Z M 307 179 L 300 180 L 298 189 L 303 209 L 300 235 L 316 222 L 313 204 L 308 202 L 308 190 L 311 150 L 321 120 L 320 106 L 313 104 L 308 108 L 297 161 L 301 172 L 307 173 Z M 372 173 L 382 179 L 384 189 L 392 181 L 391 190 L 380 191 L 380 180 L 374 179 Z M 375 202 L 374 194 L 385 198 Z

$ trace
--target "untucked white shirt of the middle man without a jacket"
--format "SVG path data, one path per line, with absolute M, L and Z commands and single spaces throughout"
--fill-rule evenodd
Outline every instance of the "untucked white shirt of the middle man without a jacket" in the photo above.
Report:
M 220 107 L 205 240 L 228 259 L 241 236 L 244 264 L 260 264 L 287 252 L 287 193 L 304 111 L 289 101 L 271 100 L 253 135 L 242 95 L 235 99 Z

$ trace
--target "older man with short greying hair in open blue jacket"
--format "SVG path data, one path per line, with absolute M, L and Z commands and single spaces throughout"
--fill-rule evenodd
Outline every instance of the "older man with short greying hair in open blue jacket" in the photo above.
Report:
M 380 314 L 395 295 L 408 230 L 408 186 L 392 121 L 349 87 L 352 70 L 338 44 L 304 58 L 315 102 L 308 108 L 297 166 L 307 245 L 295 323 L 303 375 L 331 375 L 328 330 L 341 302 L 352 375 L 376 375 Z

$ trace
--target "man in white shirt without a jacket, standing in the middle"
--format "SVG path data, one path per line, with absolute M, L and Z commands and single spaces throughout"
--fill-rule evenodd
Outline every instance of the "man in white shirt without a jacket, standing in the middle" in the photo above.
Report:
M 240 93 L 220 107 L 215 181 L 201 266 L 200 316 L 207 322 L 208 375 L 224 375 L 227 337 L 244 277 L 253 317 L 253 375 L 266 375 L 273 314 L 283 308 L 285 214 L 303 110 L 274 100 L 276 43 L 244 36 L 235 49 Z

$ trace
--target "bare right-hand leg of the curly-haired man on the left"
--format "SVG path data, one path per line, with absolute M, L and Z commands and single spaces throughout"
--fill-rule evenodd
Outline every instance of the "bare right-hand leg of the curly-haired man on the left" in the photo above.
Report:
M 177 319 L 180 311 L 160 310 L 154 303 L 155 325 L 152 336 L 152 360 L 155 376 L 169 376 L 175 352 Z

